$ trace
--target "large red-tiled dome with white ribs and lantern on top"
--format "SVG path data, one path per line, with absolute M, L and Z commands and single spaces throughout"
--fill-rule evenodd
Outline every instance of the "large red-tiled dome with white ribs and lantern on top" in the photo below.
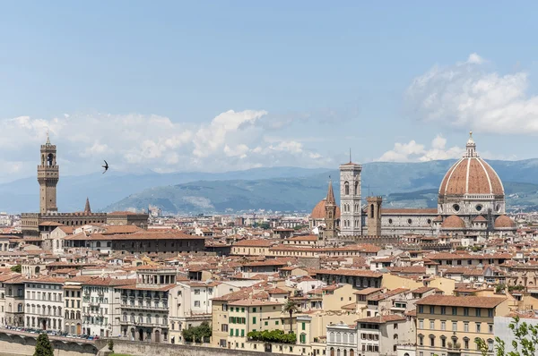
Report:
M 476 154 L 473 136 L 467 141 L 467 151 L 450 169 L 439 187 L 439 198 L 445 196 L 504 196 L 499 175 Z

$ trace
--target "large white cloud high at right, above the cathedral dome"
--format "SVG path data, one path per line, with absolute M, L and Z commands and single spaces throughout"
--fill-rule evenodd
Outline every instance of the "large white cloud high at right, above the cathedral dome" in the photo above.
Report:
M 412 115 L 465 130 L 538 133 L 538 97 L 527 93 L 528 74 L 489 72 L 486 64 L 473 53 L 415 78 L 405 94 Z

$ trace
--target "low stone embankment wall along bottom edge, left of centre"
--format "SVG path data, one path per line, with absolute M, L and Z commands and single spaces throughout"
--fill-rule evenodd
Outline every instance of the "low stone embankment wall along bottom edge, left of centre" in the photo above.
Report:
M 108 340 L 97 340 L 97 346 L 102 350 L 107 349 Z M 252 356 L 264 354 L 265 356 L 276 355 L 273 352 L 247 352 L 242 350 L 229 350 L 222 348 L 175 345 L 170 343 L 141 343 L 126 340 L 114 340 L 114 352 L 132 356 L 159 355 L 159 356 Z

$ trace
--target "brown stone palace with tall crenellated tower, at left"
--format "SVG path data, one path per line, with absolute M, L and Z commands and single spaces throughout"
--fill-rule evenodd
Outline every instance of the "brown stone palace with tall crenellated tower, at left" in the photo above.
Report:
M 143 225 L 148 221 L 148 214 L 131 212 L 92 213 L 90 201 L 86 200 L 83 211 L 58 213 L 56 205 L 56 185 L 60 179 L 60 168 L 56 163 L 56 145 L 47 142 L 40 148 L 38 165 L 39 213 L 22 213 L 22 235 L 39 237 L 44 231 L 59 225 Z

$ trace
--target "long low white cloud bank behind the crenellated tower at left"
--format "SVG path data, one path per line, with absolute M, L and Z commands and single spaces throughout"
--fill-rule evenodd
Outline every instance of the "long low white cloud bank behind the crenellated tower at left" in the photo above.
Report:
M 230 171 L 257 166 L 327 166 L 330 158 L 300 142 L 265 140 L 267 113 L 227 111 L 206 123 L 175 123 L 143 114 L 63 114 L 53 119 L 20 116 L 0 120 L 0 149 L 5 167 L 0 182 L 35 174 L 39 145 L 58 149 L 62 174 L 111 171 Z

